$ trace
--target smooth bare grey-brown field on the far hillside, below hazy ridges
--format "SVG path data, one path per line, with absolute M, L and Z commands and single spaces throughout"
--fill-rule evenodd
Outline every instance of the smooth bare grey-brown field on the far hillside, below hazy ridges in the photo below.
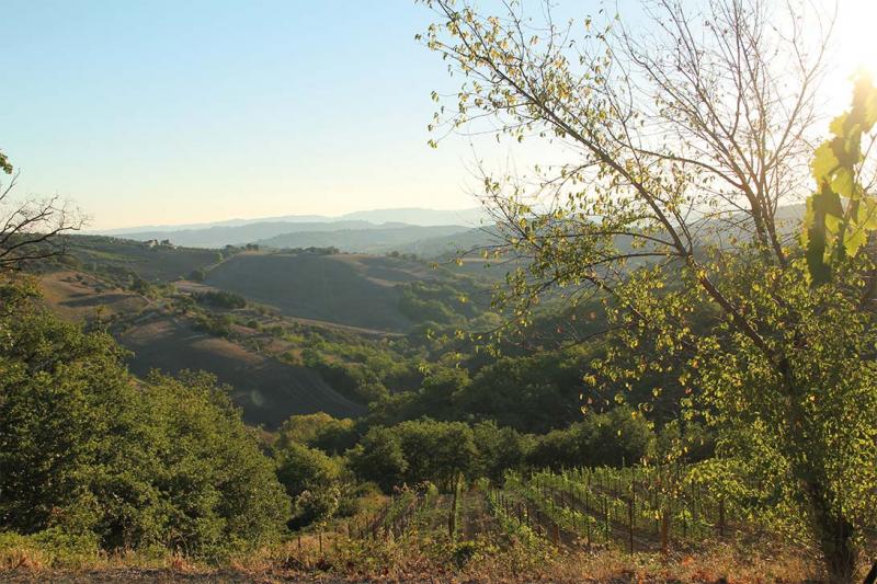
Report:
M 210 271 L 207 283 L 273 306 L 284 314 L 399 332 L 396 284 L 437 273 L 414 262 L 357 254 L 241 253 Z

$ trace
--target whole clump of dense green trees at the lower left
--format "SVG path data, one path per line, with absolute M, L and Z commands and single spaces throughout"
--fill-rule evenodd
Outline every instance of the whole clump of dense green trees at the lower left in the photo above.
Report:
M 112 337 L 22 290 L 0 317 L 0 525 L 201 557 L 280 536 L 289 500 L 215 379 L 137 381 Z

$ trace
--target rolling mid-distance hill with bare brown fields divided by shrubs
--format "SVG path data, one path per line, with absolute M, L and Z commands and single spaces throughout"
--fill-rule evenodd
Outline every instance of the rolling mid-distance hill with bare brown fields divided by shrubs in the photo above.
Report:
M 354 378 L 330 374 L 343 374 L 345 364 L 355 369 L 353 355 L 362 351 L 380 350 L 351 347 L 383 346 L 435 314 L 475 310 L 472 302 L 456 304 L 460 294 L 471 297 L 471 278 L 398 255 L 220 252 L 94 236 L 70 237 L 68 244 L 69 256 L 36 270 L 53 310 L 73 322 L 103 319 L 132 351 L 128 366 L 137 376 L 214 374 L 234 388 L 244 420 L 267 428 L 293 414 L 364 414 Z M 204 282 L 187 279 L 193 271 Z M 197 298 L 220 290 L 242 296 L 246 307 Z M 328 374 L 308 353 L 324 340 L 341 352 L 318 359 Z

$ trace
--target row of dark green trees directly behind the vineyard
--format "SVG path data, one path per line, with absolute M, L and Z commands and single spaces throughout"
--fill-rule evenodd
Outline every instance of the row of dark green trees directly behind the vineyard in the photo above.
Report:
M 466 423 L 424 416 L 369 426 L 365 420 L 335 420 L 321 413 L 291 417 L 280 430 L 274 447 L 281 458 L 293 445 L 296 457 L 305 456 L 301 448 L 320 451 L 319 456 L 308 456 L 334 460 L 337 469 L 346 468 L 358 481 L 374 482 L 385 492 L 426 481 L 451 490 L 459 478 L 487 477 L 502 482 L 508 470 L 620 467 L 654 460 L 662 455 L 664 443 L 676 442 L 677 427 L 668 427 L 669 433 L 656 435 L 646 419 L 627 406 L 590 414 L 544 435 L 521 433 L 492 420 Z M 686 434 L 701 446 L 693 456 L 708 456 L 708 436 L 695 424 L 691 428 Z M 326 470 L 326 465 L 321 468 Z M 334 477 L 339 474 L 333 471 Z M 316 482 L 308 484 L 316 486 Z

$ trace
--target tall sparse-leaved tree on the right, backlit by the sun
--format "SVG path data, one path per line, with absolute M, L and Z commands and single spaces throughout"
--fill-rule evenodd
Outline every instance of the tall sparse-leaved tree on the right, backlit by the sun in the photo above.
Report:
M 790 511 L 789 534 L 804 528 L 830 580 L 852 581 L 877 523 L 869 81 L 817 152 L 807 254 L 785 207 L 810 190 L 800 170 L 830 27 L 766 0 L 703 12 L 658 0 L 649 34 L 590 18 L 559 26 L 548 3 L 545 23 L 519 3 L 500 15 L 425 3 L 438 22 L 423 38 L 462 80 L 434 127 L 558 154 L 535 180 L 485 172 L 499 251 L 524 260 L 498 302 L 525 329 L 542 299 L 600 298 L 613 345 L 588 381 L 624 401 L 637 379 L 672 373 L 683 416 L 703 406 L 719 431 L 718 454 L 781 485 L 753 516 Z M 715 318 L 698 328 L 696 313 Z

